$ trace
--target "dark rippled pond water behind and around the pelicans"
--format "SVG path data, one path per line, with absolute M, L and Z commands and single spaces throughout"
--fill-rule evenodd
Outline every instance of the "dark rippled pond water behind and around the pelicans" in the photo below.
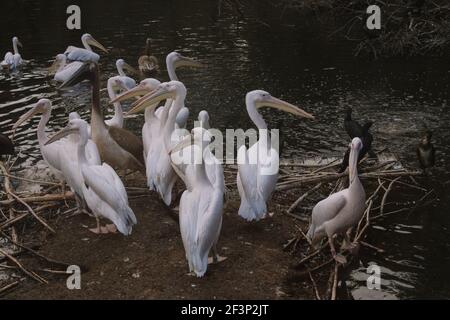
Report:
M 315 121 L 265 112 L 269 124 L 283 119 L 284 158 L 340 156 L 347 144 L 343 110 L 352 106 L 355 117 L 375 122 L 375 149 L 389 147 L 403 164 L 414 167 L 415 146 L 426 123 L 439 150 L 435 178 L 428 183 L 437 186 L 441 201 L 372 226 L 371 242 L 387 252 L 380 259 L 364 260 L 382 266 L 386 298 L 449 298 L 450 184 L 445 182 L 450 180 L 450 167 L 445 160 L 450 155 L 450 60 L 355 59 L 346 45 L 331 42 L 328 33 L 313 23 L 299 19 L 268 28 L 254 19 L 239 21 L 228 14 L 217 18 L 215 2 L 203 2 L 79 1 L 79 32 L 65 27 L 65 10 L 71 2 L 3 1 L 0 54 L 11 50 L 10 39 L 16 35 L 24 45 L 22 57 L 30 63 L 21 74 L 0 75 L 1 131 L 11 133 L 12 124 L 40 98 L 51 99 L 55 107 L 49 128 L 65 125 L 68 111 L 89 114 L 86 86 L 60 94 L 45 70 L 68 45 L 81 46 L 83 32 L 111 49 L 101 58 L 104 81 L 116 74 L 117 58 L 136 66 L 147 37 L 163 66 L 165 55 L 173 50 L 205 62 L 204 70 L 178 72 L 188 88 L 190 121 L 206 109 L 214 127 L 251 127 L 244 97 L 253 89 L 302 106 L 316 116 Z M 163 69 L 159 78 L 166 80 Z M 140 133 L 142 122 L 139 117 L 126 125 Z M 34 119 L 16 133 L 24 158 L 39 158 L 36 124 Z M 355 297 L 373 296 L 365 289 L 366 278 L 363 266 L 353 272 L 349 284 Z

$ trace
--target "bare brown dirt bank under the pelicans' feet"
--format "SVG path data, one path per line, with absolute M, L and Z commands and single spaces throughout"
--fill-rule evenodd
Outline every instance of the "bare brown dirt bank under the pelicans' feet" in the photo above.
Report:
M 237 216 L 238 203 L 227 201 L 219 248 L 228 259 L 197 279 L 187 275 L 178 224 L 156 194 L 131 200 L 138 218 L 133 234 L 94 235 L 87 215 L 52 222 L 55 235 L 35 233 L 47 257 L 81 265 L 81 290 L 66 288 L 65 274 L 38 271 L 48 264 L 21 256 L 21 261 L 49 280 L 27 279 L 7 299 L 279 299 L 313 298 L 311 288 L 289 285 L 294 256 L 282 250 L 295 230 L 291 218 L 248 223 Z M 272 208 L 273 209 L 273 208 Z M 60 268 L 62 269 L 62 268 Z M 17 271 L 19 273 L 19 271 Z

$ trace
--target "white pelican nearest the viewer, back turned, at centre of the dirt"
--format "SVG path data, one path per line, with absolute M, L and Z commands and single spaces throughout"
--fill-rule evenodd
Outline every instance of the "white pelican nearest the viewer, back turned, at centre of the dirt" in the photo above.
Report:
M 197 277 L 203 277 L 209 251 L 212 250 L 213 262 L 220 259 L 216 244 L 222 227 L 225 184 L 222 165 L 208 148 L 210 136 L 207 131 L 197 127 L 192 130 L 192 136 L 194 145 L 189 152 L 193 152 L 193 161 L 187 164 L 183 176 L 186 190 L 180 200 L 180 231 L 189 270 Z M 191 136 L 188 136 L 171 150 L 171 154 L 190 143 Z

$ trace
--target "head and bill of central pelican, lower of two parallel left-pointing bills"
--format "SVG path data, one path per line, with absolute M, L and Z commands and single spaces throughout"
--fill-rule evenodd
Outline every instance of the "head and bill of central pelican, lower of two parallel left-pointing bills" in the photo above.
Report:
M 130 115 L 141 112 L 149 106 L 156 108 L 160 101 L 175 99 L 177 96 L 181 96 L 183 99 L 185 98 L 186 87 L 184 84 L 180 81 L 163 82 L 158 85 L 154 91 L 142 97 L 142 99 L 140 99 L 141 101 L 137 101 L 127 114 Z

